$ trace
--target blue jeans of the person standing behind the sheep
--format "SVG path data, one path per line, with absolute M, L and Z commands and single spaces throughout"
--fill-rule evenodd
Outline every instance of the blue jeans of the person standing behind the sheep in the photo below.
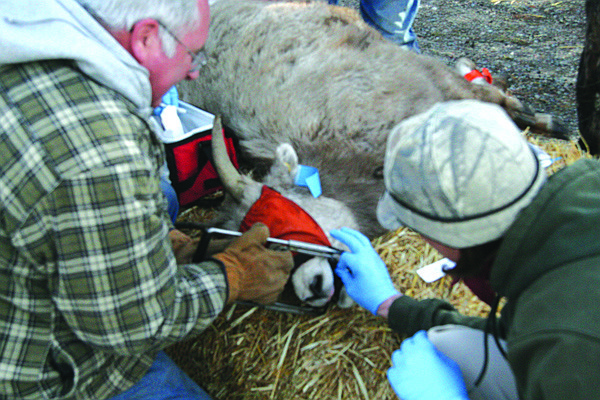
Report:
M 338 0 L 328 0 L 337 4 Z M 412 29 L 421 0 L 361 0 L 360 13 L 383 37 L 420 53 L 417 35 Z

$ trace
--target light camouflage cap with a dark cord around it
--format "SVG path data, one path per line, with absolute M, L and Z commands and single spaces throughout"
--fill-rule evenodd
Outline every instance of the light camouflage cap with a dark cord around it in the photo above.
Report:
M 546 173 L 521 131 L 497 105 L 440 103 L 390 133 L 377 217 L 453 248 L 504 235 Z

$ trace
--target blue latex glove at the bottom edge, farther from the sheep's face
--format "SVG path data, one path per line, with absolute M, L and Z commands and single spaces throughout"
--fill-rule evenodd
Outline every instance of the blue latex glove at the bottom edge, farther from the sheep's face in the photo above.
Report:
M 402 400 L 469 400 L 460 367 L 435 348 L 425 331 L 402 342 L 387 372 Z

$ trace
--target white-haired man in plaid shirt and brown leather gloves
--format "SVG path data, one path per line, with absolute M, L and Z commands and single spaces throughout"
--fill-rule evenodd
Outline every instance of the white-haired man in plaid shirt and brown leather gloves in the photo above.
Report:
M 292 258 L 257 225 L 192 264 L 166 213 L 150 117 L 198 76 L 206 0 L 0 15 L 0 397 L 208 398 L 161 350 L 236 299 L 274 301 Z

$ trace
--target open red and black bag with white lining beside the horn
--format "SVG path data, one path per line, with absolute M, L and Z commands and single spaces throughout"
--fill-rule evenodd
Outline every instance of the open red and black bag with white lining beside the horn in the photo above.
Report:
M 180 140 L 165 143 L 167 167 L 171 184 L 182 208 L 197 204 L 214 205 L 219 198 L 207 200 L 207 195 L 223 188 L 212 163 L 211 130 L 213 115 L 190 104 L 180 102 L 179 113 L 186 132 Z M 237 140 L 225 128 L 225 144 L 233 165 L 239 168 Z

